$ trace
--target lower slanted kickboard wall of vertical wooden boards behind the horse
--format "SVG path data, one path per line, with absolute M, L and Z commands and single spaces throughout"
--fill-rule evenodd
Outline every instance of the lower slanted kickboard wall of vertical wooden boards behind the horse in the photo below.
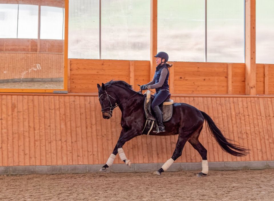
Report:
M 181 96 L 205 111 L 227 138 L 251 151 L 238 158 L 206 134 L 200 141 L 209 161 L 274 160 L 274 97 Z M 120 133 L 120 110 L 102 118 L 96 95 L 0 95 L 0 166 L 104 164 Z M 124 145 L 133 163 L 160 163 L 171 157 L 178 136 L 138 136 Z M 186 144 L 176 162 L 200 162 Z M 122 163 L 117 157 L 115 163 Z

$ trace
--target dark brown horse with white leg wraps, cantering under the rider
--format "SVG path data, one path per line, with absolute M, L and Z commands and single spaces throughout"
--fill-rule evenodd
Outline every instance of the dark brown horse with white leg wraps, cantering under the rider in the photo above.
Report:
M 143 109 L 144 95 L 132 90 L 132 86 L 124 81 L 110 81 L 105 84 L 102 83 L 102 86 L 97 84 L 97 87 L 103 118 L 109 119 L 116 106 L 118 106 L 122 112 L 122 130 L 120 137 L 108 161 L 100 171 L 106 171 L 107 168 L 112 165 L 117 153 L 121 160 L 130 166 L 131 162 L 126 158 L 122 146 L 128 140 L 142 134 L 146 122 Z M 168 159 L 158 171 L 154 172 L 154 174 L 161 175 L 162 172 L 166 171 L 174 160 L 182 155 L 182 150 L 187 141 L 190 142 L 202 156 L 202 172 L 198 173 L 197 176 L 205 176 L 207 174 L 207 150 L 198 139 L 204 121 L 207 122 L 211 135 L 214 136 L 225 152 L 233 156 L 245 156 L 248 153 L 246 148 L 233 144 L 231 140 L 225 138 L 213 120 L 205 112 L 186 103 L 174 103 L 173 111 L 172 118 L 164 123 L 166 132 L 152 133 L 152 135 L 162 136 L 179 134 L 172 157 Z

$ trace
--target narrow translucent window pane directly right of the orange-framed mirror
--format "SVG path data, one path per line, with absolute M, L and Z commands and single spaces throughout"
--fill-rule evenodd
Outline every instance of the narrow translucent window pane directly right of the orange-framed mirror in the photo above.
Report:
M 99 0 L 68 3 L 68 58 L 99 59 Z

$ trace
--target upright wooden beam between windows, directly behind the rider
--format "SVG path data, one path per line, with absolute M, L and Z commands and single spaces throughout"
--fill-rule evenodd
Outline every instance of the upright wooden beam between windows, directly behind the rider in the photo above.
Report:
M 157 0 L 150 0 L 150 79 L 155 71 L 155 55 L 157 54 Z

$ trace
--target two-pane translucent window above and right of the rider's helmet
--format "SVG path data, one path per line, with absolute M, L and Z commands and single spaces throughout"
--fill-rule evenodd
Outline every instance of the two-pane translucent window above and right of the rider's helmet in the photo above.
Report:
M 244 3 L 158 0 L 158 51 L 170 61 L 244 62 Z

